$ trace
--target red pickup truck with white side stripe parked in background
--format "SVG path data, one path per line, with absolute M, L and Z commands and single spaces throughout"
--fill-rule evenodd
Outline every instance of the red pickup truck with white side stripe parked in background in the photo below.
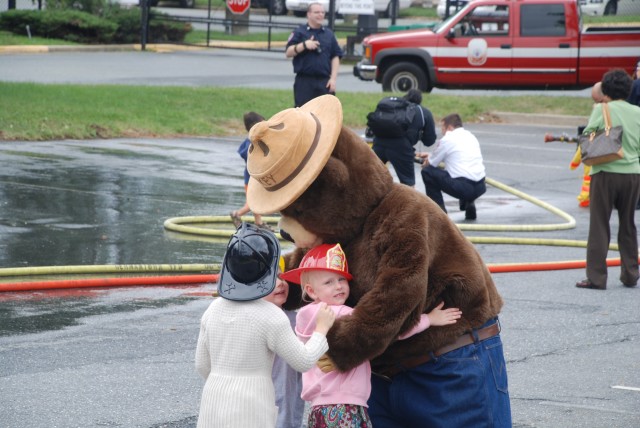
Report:
M 373 34 L 353 73 L 384 91 L 581 89 L 640 58 L 640 24 L 583 28 L 576 0 L 474 0 L 433 29 Z

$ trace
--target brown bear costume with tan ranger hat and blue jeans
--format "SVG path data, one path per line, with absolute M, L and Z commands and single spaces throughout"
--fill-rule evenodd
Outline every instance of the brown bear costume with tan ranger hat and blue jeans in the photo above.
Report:
M 353 280 L 352 316 L 328 334 L 330 364 L 371 360 L 373 426 L 510 427 L 498 313 L 502 298 L 480 255 L 425 195 L 394 183 L 355 133 L 342 127 L 332 95 L 287 109 L 249 133 L 251 210 L 279 212 L 296 249 L 340 243 Z M 288 306 L 301 305 L 290 287 Z M 439 302 L 462 318 L 403 341 L 396 338 Z

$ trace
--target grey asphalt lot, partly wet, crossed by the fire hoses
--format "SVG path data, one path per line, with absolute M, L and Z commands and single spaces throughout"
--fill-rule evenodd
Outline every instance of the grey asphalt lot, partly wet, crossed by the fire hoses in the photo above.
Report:
M 0 63 L 2 58 L 0 58 Z M 587 237 L 569 170 L 574 126 L 471 124 L 487 176 L 575 219 L 575 228 L 489 187 L 470 237 Z M 167 232 L 167 218 L 226 215 L 244 199 L 241 138 L 0 142 L 0 267 L 220 262 L 225 240 Z M 416 167 L 417 168 L 417 167 Z M 419 182 L 418 176 L 418 182 Z M 423 191 L 421 184 L 418 191 Z M 456 201 L 453 221 L 464 225 Z M 462 226 L 464 227 L 464 226 Z M 617 235 L 612 219 L 611 236 Z M 476 244 L 487 263 L 582 260 L 583 248 Z M 617 253 L 611 252 L 611 257 Z M 640 290 L 619 268 L 607 291 L 578 290 L 582 269 L 497 273 L 515 427 L 640 426 Z M 194 427 L 193 366 L 214 284 L 0 293 L 0 426 Z

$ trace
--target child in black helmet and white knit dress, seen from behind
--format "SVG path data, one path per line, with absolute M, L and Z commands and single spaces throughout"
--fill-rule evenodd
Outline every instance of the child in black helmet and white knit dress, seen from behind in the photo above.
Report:
M 275 287 L 280 246 L 275 235 L 243 223 L 224 255 L 218 293 L 200 321 L 195 365 L 206 380 L 198 427 L 274 427 L 271 381 L 274 355 L 298 371 L 312 368 L 328 349 L 335 320 L 324 306 L 311 339 L 303 344 L 289 319 L 262 299 Z

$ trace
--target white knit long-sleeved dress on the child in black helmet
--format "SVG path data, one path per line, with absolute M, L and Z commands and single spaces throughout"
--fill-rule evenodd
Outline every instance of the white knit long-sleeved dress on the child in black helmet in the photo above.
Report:
M 274 427 L 274 353 L 303 372 L 328 349 L 319 333 L 302 344 L 272 303 L 214 300 L 200 321 L 196 349 L 196 369 L 206 379 L 198 428 Z

